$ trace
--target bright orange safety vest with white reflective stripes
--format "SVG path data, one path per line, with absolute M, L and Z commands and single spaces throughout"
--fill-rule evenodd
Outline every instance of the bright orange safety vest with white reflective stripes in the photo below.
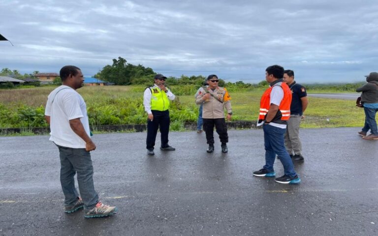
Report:
M 261 123 L 263 120 L 265 120 L 265 116 L 269 111 L 270 93 L 272 92 L 274 86 L 280 86 L 284 90 L 284 98 L 280 103 L 279 111 L 270 122 L 285 124 L 286 121 L 290 118 L 291 90 L 284 82 L 282 82 L 282 80 L 279 80 L 276 83 L 273 82 L 273 85 L 271 84 L 271 87 L 269 89 L 266 89 L 261 96 L 258 123 Z

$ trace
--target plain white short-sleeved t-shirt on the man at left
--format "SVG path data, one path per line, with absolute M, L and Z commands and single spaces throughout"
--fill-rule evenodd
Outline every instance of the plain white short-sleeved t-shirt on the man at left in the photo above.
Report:
M 67 148 L 85 148 L 85 142 L 69 125 L 69 120 L 80 118 L 90 136 L 87 106 L 83 97 L 68 86 L 54 89 L 47 99 L 45 115 L 50 116 L 50 141 Z

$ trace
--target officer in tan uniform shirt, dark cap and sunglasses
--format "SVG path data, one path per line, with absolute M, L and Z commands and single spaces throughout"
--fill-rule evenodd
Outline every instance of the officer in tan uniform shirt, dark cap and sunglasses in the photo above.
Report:
M 218 86 L 219 79 L 217 75 L 209 75 L 207 82 L 209 86 L 201 88 L 195 100 L 196 104 L 203 103 L 203 129 L 205 130 L 207 144 L 209 145 L 206 151 L 209 153 L 214 151 L 215 125 L 219 139 L 221 140 L 222 152 L 226 153 L 228 152 L 228 134 L 224 119 L 224 108 L 227 110 L 227 119 L 231 120 L 231 97 L 226 88 Z

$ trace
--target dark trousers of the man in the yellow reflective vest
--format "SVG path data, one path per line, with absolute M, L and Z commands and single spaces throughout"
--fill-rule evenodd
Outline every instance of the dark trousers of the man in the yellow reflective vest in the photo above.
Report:
M 158 134 L 158 128 L 160 126 L 160 133 L 161 133 L 161 147 L 166 148 L 168 147 L 168 132 L 169 132 L 169 111 L 155 111 L 152 110 L 152 115 L 154 118 L 151 120 L 147 120 L 147 149 L 154 149 L 156 135 Z

